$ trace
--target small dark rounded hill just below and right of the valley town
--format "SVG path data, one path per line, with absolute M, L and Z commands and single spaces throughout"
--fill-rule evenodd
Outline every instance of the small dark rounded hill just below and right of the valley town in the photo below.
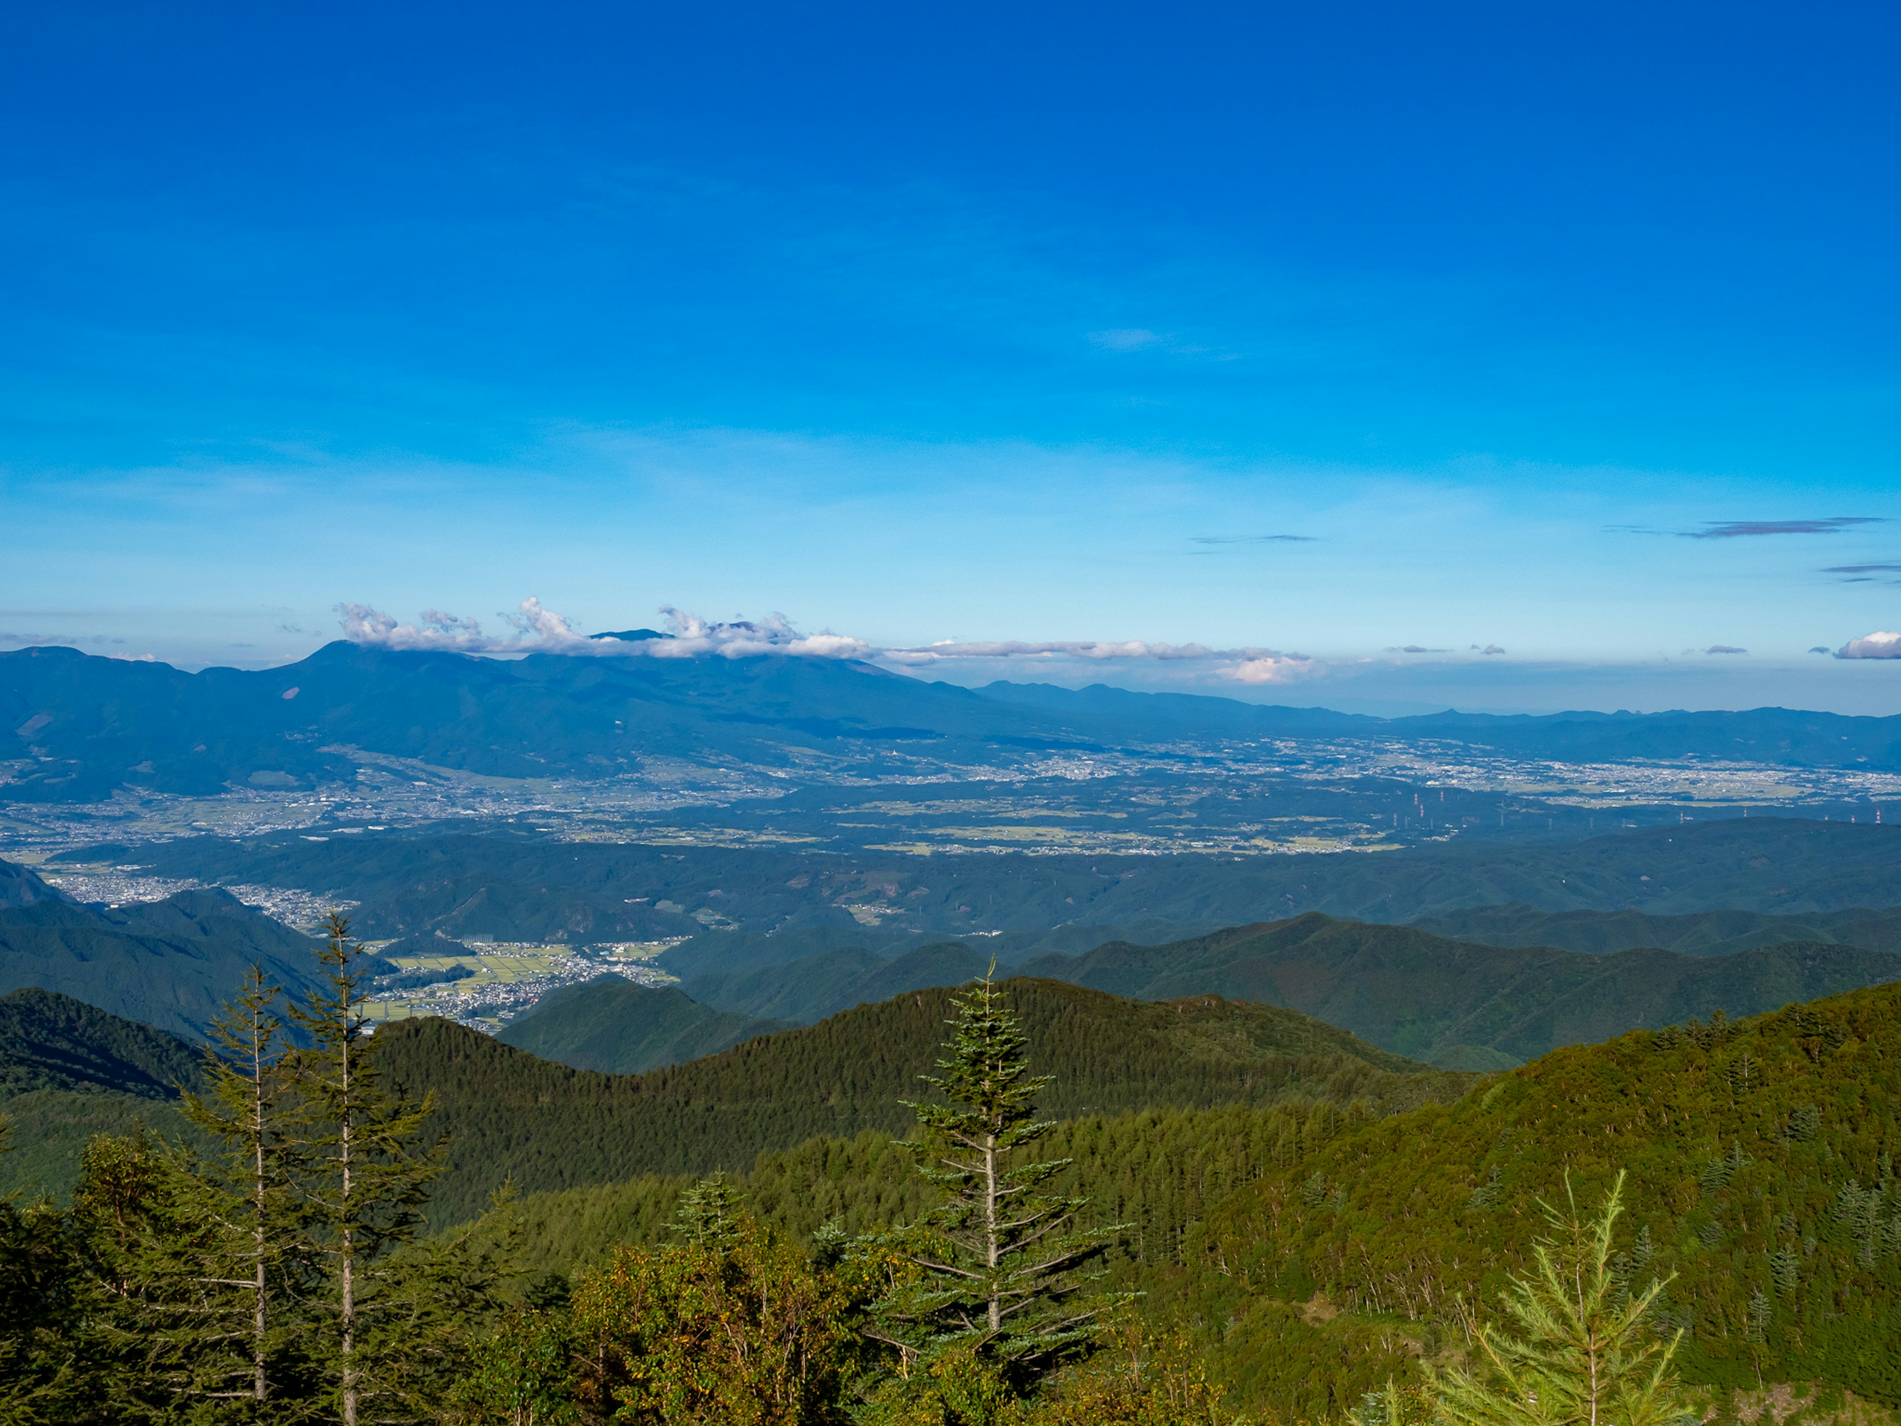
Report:
M 709 1010 L 673 987 L 603 975 L 549 991 L 496 1040 L 572 1069 L 641 1074 L 789 1029 L 787 1021 Z

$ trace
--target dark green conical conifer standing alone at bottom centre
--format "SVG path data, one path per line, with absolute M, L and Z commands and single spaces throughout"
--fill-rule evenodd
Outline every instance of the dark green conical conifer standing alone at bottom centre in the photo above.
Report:
M 920 1173 L 947 1202 L 897 1240 L 907 1272 L 874 1306 L 873 1333 L 907 1371 L 949 1352 L 1025 1390 L 1089 1342 L 1112 1302 L 1089 1297 L 1078 1270 L 1122 1228 L 1078 1230 L 1087 1200 L 1046 1192 L 1070 1160 L 1021 1162 L 1055 1127 L 1032 1107 L 1051 1080 L 1030 1074 L 1002 991 L 985 975 L 952 1006 L 943 1074 L 924 1076 L 950 1103 L 907 1103 L 924 1129 Z

